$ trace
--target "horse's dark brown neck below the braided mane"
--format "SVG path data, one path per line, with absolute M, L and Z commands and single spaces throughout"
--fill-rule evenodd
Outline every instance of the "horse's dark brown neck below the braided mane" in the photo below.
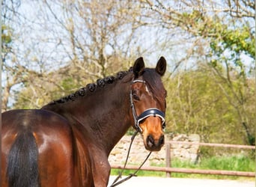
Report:
M 73 102 L 55 105 L 50 110 L 82 124 L 85 135 L 109 155 L 132 124 L 129 89 L 129 82 L 117 81 Z

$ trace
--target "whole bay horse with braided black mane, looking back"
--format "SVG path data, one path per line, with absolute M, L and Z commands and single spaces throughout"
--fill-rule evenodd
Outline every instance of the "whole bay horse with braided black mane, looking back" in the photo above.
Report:
M 107 186 L 108 156 L 133 126 L 144 147 L 164 144 L 165 58 L 98 79 L 40 109 L 1 114 L 1 186 Z

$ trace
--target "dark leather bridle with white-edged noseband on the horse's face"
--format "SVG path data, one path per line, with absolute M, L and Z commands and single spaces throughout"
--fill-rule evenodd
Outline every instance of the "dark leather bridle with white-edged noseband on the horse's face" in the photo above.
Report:
M 133 84 L 135 82 L 146 83 L 143 80 L 134 80 L 134 81 L 132 81 L 131 84 Z M 160 117 L 160 119 L 162 121 L 162 129 L 165 129 L 165 113 L 160 111 L 158 108 L 148 108 L 147 110 L 143 111 L 139 116 L 137 116 L 136 111 L 135 111 L 135 105 L 134 105 L 133 99 L 132 99 L 132 90 L 129 92 L 129 101 L 130 101 L 131 107 L 132 107 L 132 115 L 133 115 L 133 119 L 134 119 L 135 129 L 138 130 L 138 132 L 142 132 L 140 122 L 150 116 Z

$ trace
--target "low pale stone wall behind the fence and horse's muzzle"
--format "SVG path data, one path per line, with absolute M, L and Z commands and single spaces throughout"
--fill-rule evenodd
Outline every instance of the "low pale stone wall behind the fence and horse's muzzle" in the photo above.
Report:
M 129 144 L 131 142 L 131 137 L 125 135 L 121 141 L 116 144 L 115 148 L 112 150 L 109 156 L 109 162 L 113 165 L 122 165 L 127 158 L 127 152 L 129 149 Z M 189 142 L 199 142 L 199 135 L 165 135 L 165 142 L 167 141 L 189 141 Z M 166 145 L 166 144 L 165 144 Z M 165 163 L 165 145 L 159 152 L 153 152 L 150 155 L 149 161 L 145 165 L 159 165 Z M 191 162 L 196 162 L 198 159 L 198 145 L 189 145 L 189 144 L 171 144 L 171 159 L 177 158 L 182 160 L 189 160 Z M 135 137 L 135 140 L 132 144 L 132 149 L 129 153 L 129 165 L 140 165 L 141 162 L 147 157 L 149 152 L 145 150 L 143 140 L 140 135 Z

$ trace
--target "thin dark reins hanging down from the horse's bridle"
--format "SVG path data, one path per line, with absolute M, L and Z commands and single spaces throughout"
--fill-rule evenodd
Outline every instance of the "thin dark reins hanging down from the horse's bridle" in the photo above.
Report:
M 135 138 L 135 136 L 136 136 L 137 134 L 138 134 L 138 130 L 136 130 L 136 131 L 134 132 L 134 134 L 132 135 L 131 143 L 129 144 L 129 149 L 128 149 L 128 152 L 127 152 L 127 159 L 125 160 L 123 169 L 119 172 L 118 177 L 115 178 L 114 182 L 113 182 L 112 185 L 109 186 L 109 187 L 118 186 L 118 185 L 120 185 L 121 183 L 124 183 L 125 181 L 129 180 L 130 178 L 136 177 L 136 176 L 137 176 L 137 175 L 136 175 L 137 172 L 141 169 L 141 167 L 144 165 L 144 163 L 145 163 L 145 162 L 147 161 L 147 159 L 150 157 L 150 154 L 152 153 L 151 151 L 150 151 L 150 153 L 148 153 L 146 159 L 144 159 L 144 162 L 141 163 L 141 165 L 138 167 L 138 169 L 137 169 L 133 174 L 129 174 L 128 177 L 124 178 L 123 180 L 118 181 L 119 179 L 121 179 L 122 174 L 123 174 L 123 172 L 124 172 L 124 170 L 125 170 L 125 167 L 127 166 L 127 161 L 128 161 L 128 158 L 129 158 L 129 151 L 131 150 L 132 142 L 133 142 L 133 140 L 134 140 L 134 138 Z

